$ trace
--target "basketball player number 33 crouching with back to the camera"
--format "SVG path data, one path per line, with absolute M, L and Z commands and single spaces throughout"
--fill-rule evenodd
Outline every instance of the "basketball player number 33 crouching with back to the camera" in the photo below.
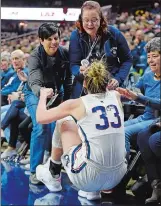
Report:
M 51 159 L 36 168 L 36 176 L 50 191 L 60 191 L 62 163 L 78 194 L 94 200 L 101 198 L 100 190 L 114 188 L 126 172 L 124 115 L 119 93 L 106 90 L 106 66 L 95 61 L 84 75 L 88 94 L 49 110 L 46 100 L 53 91 L 41 89 L 37 121 L 58 121 Z

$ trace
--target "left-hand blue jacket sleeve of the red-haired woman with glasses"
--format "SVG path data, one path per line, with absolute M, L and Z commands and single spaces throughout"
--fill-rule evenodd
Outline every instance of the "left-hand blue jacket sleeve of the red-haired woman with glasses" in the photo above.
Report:
M 75 30 L 71 33 L 70 37 L 69 59 L 71 72 L 78 80 L 83 80 L 83 75 L 79 72 L 82 58 L 79 35 Z

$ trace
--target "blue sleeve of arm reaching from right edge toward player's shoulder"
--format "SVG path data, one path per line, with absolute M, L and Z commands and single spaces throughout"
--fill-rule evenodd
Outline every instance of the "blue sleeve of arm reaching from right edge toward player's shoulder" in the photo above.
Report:
M 138 95 L 136 101 L 146 106 L 152 107 L 153 109 L 160 110 L 160 99 L 153 99 L 144 95 Z

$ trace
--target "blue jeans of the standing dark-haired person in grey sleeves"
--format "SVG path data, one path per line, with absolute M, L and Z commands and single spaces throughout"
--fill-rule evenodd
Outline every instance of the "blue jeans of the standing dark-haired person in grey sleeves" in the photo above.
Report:
M 55 122 L 44 125 L 37 123 L 36 109 L 39 98 L 35 96 L 32 91 L 27 89 L 24 90 L 24 94 L 26 107 L 33 123 L 30 141 L 30 171 L 35 173 L 36 167 L 43 162 L 44 151 L 47 150 L 47 147 L 48 150 L 51 150 Z

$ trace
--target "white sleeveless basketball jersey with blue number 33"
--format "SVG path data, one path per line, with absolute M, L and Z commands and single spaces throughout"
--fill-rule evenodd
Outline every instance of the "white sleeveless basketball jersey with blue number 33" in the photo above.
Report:
M 83 130 L 82 149 L 86 158 L 115 167 L 125 157 L 124 113 L 116 91 L 81 97 L 86 116 L 78 121 Z

